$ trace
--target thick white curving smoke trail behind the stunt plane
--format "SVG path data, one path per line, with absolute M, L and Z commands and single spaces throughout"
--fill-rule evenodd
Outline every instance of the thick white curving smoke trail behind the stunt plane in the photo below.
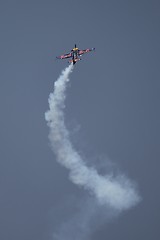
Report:
M 45 119 L 50 128 L 49 139 L 57 161 L 70 170 L 73 183 L 83 186 L 96 197 L 100 205 L 122 211 L 134 206 L 139 200 L 134 184 L 124 176 L 101 176 L 89 168 L 70 142 L 64 123 L 65 91 L 73 65 L 69 65 L 54 84 L 49 96 L 49 111 Z

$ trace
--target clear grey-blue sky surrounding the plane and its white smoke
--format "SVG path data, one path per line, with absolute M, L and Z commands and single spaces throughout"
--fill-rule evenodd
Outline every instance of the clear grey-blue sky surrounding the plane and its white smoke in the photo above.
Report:
M 71 75 L 72 142 L 99 171 L 108 171 L 109 159 L 142 197 L 111 221 L 100 211 L 90 238 L 159 240 L 160 2 L 1 0 L 0 35 L 0 239 L 54 239 L 89 205 L 55 161 L 44 119 L 53 82 L 68 65 L 55 57 L 77 43 L 96 51 Z

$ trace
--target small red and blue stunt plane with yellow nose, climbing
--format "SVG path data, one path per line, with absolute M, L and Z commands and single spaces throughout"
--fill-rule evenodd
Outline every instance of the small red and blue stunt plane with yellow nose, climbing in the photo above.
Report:
M 71 50 L 70 53 L 58 56 L 56 58 L 57 59 L 71 58 L 71 60 L 69 60 L 69 63 L 73 63 L 73 65 L 74 65 L 74 64 L 76 64 L 76 62 L 81 60 L 81 58 L 79 58 L 79 57 L 81 57 L 84 53 L 91 52 L 93 50 L 95 50 L 95 48 L 87 48 L 84 50 L 80 50 L 79 48 L 77 48 L 77 46 L 75 44 L 75 47 Z

